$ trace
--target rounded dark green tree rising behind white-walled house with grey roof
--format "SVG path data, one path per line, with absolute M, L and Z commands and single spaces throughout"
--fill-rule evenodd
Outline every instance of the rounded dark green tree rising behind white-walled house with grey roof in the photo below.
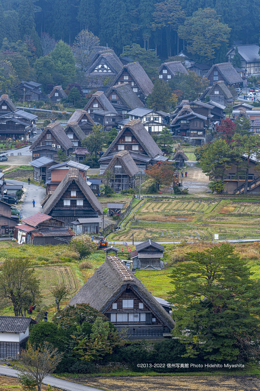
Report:
M 146 104 L 149 109 L 155 111 L 162 110 L 167 112 L 168 101 L 172 97 L 172 90 L 167 82 L 162 79 L 157 79 L 154 83 L 152 93 L 146 99 Z

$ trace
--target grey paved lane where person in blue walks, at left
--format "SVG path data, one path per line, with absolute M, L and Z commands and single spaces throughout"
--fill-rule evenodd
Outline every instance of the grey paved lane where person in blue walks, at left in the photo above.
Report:
M 21 216 L 22 218 L 29 217 L 37 212 L 42 212 L 41 201 L 46 194 L 46 190 L 38 185 L 28 185 L 27 182 L 14 181 L 13 179 L 6 179 L 6 183 L 10 185 L 23 185 L 27 188 L 23 204 L 21 206 Z M 32 206 L 32 201 L 35 201 L 35 208 Z

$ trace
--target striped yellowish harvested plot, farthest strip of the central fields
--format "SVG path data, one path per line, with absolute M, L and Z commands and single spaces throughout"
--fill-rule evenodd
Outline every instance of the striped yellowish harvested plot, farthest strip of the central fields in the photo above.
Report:
M 160 200 L 147 201 L 137 213 L 164 212 L 164 213 L 210 213 L 218 205 L 218 201 L 200 200 Z

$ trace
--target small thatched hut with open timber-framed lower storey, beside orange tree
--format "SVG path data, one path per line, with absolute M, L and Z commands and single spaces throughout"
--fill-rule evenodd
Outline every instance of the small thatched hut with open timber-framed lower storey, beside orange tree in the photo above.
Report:
M 109 185 L 117 193 L 134 189 L 134 176 L 140 172 L 129 151 L 115 153 L 103 175 L 106 175 L 107 171 L 113 173 Z

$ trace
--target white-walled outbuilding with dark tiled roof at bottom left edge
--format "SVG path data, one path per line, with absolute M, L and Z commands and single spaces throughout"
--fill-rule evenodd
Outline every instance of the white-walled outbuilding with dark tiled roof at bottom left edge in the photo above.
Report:
M 0 359 L 19 359 L 19 352 L 26 349 L 30 323 L 37 323 L 27 316 L 0 316 Z

